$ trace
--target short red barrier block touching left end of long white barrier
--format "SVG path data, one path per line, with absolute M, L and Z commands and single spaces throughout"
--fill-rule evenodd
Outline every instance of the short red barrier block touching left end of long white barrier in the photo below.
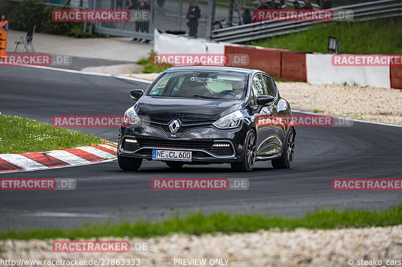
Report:
M 281 63 L 282 79 L 307 82 L 306 53 L 283 51 Z

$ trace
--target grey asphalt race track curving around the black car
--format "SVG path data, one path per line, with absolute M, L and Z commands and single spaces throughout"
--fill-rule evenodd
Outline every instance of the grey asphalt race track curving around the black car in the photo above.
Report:
M 55 115 L 122 115 L 140 82 L 113 77 L 2 66 L 0 112 L 51 122 Z M 279 88 L 280 90 L 280 88 Z M 373 100 L 374 101 L 374 100 Z M 77 128 L 116 141 L 117 128 Z M 75 227 L 85 221 L 163 219 L 179 210 L 256 212 L 301 216 L 318 207 L 384 208 L 400 191 L 334 191 L 334 178 L 401 178 L 402 128 L 355 122 L 352 127 L 299 127 L 290 169 L 258 162 L 251 173 L 229 164 L 169 169 L 144 161 L 137 173 L 116 160 L 86 166 L 3 173 L 6 177 L 76 178 L 71 191 L 0 191 L 0 229 Z M 249 190 L 151 189 L 152 178 L 247 177 Z

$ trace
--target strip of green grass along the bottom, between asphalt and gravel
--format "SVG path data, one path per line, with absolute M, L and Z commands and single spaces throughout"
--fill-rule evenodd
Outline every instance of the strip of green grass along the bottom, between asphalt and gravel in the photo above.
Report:
M 33 229 L 26 231 L 0 232 L 0 239 L 45 239 L 45 238 L 89 238 L 97 236 L 150 237 L 170 233 L 204 234 L 213 232 L 254 232 L 260 229 L 293 230 L 304 227 L 310 229 L 330 229 L 343 227 L 386 226 L 402 223 L 402 205 L 382 211 L 320 209 L 304 217 L 273 217 L 267 215 L 194 213 L 187 217 L 178 214 L 171 219 L 150 222 L 87 223 L 76 229 Z

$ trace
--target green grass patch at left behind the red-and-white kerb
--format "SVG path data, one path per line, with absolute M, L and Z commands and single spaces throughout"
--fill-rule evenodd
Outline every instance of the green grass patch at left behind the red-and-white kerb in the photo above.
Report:
M 81 132 L 0 114 L 0 154 L 74 148 L 102 142 L 98 137 Z

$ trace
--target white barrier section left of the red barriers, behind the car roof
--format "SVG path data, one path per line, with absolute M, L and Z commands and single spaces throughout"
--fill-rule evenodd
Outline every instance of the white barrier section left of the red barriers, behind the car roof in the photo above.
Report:
M 155 29 L 154 51 L 158 54 L 225 54 L 225 45 L 204 39 L 161 34 Z

